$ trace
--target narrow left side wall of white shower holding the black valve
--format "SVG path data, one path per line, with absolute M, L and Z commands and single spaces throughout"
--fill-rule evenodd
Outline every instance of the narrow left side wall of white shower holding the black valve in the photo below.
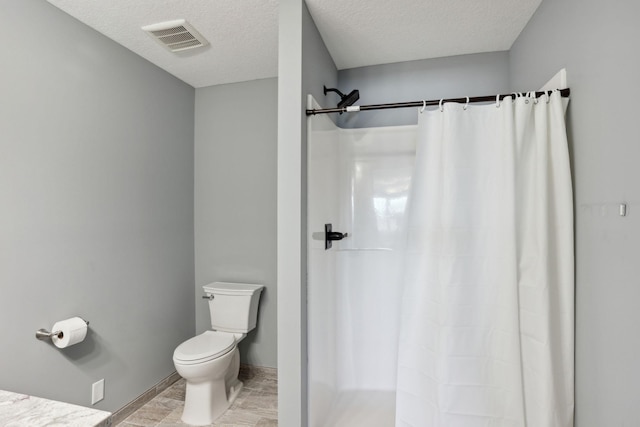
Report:
M 336 222 L 338 131 L 328 116 L 308 121 L 307 345 L 309 426 L 323 425 L 337 396 L 336 257 L 324 250 L 324 224 Z M 338 224 L 334 224 L 338 230 Z

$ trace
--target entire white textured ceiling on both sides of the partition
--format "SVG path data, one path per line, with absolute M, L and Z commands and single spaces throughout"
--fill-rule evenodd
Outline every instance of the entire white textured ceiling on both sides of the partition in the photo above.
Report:
M 193 87 L 278 74 L 278 0 L 48 0 Z M 338 69 L 508 50 L 541 0 L 306 0 Z M 141 30 L 186 19 L 171 53 Z

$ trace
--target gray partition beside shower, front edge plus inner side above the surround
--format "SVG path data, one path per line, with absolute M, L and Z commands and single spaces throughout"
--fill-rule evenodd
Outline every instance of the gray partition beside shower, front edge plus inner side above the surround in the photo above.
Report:
M 278 422 L 307 425 L 307 94 L 337 71 L 304 0 L 281 0 L 278 51 Z

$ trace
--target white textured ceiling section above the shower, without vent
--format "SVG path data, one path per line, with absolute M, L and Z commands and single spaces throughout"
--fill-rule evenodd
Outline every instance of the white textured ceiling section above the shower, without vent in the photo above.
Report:
M 306 0 L 338 69 L 509 50 L 541 0 Z

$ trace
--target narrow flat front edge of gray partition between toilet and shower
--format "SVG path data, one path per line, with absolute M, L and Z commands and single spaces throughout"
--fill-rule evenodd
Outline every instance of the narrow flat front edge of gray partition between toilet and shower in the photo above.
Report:
M 302 268 L 302 10 L 278 6 L 278 425 L 304 426 L 306 332 Z

